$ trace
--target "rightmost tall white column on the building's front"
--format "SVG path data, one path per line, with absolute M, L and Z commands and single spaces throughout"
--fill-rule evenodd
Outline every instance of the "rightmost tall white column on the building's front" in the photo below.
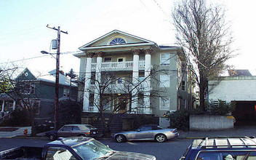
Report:
M 151 114 L 151 52 L 152 49 L 145 49 L 145 90 L 144 90 L 144 111 L 145 114 Z

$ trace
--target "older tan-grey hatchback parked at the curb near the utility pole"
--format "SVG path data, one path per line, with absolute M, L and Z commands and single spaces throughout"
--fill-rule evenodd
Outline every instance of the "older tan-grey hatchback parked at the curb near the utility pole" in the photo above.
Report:
M 57 131 L 46 132 L 46 136 L 49 140 L 56 140 L 57 137 L 95 137 L 99 133 L 99 130 L 89 124 L 66 124 Z

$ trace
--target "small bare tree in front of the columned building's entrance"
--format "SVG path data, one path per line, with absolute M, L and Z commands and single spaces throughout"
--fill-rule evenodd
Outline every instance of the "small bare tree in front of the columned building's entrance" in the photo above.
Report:
M 95 73 L 92 75 L 91 86 L 86 89 L 93 97 L 90 98 L 90 106 L 95 106 L 100 113 L 104 135 L 111 132 L 110 126 L 115 115 L 120 116 L 124 113 L 143 113 L 145 110 L 152 109 L 145 105 L 144 98 L 161 97 L 161 90 L 152 89 L 148 86 L 147 81 L 151 81 L 151 85 L 157 83 L 159 79 L 157 75 L 167 73 L 164 70 L 151 70 L 151 73 L 143 79 L 133 79 L 130 76 L 118 76 L 116 72 L 102 72 L 100 75 Z M 100 80 L 97 77 L 100 76 Z M 148 94 L 150 92 L 150 94 Z M 114 103 L 115 102 L 115 103 Z M 136 107 L 132 107 L 132 103 L 137 103 Z M 110 113 L 108 119 L 105 119 L 105 113 Z

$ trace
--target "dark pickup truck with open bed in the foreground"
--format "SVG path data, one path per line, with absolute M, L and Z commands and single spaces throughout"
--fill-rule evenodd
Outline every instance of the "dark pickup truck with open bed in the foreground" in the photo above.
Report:
M 143 153 L 113 151 L 92 137 L 59 138 L 40 147 L 18 147 L 0 152 L 0 159 L 129 159 L 155 160 L 155 156 Z

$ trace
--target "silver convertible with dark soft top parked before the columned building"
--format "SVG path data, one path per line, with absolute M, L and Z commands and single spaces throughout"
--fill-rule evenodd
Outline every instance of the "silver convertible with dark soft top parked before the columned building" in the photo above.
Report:
M 126 140 L 156 140 L 163 143 L 178 136 L 177 129 L 164 129 L 156 124 L 143 125 L 135 131 L 119 132 L 113 135 L 118 143 Z

